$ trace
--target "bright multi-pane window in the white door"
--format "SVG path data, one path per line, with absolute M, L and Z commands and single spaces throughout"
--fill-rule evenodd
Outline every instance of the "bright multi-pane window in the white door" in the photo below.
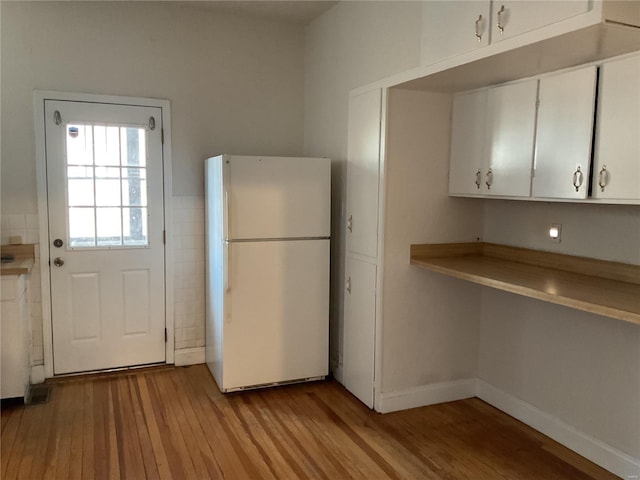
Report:
M 69 246 L 149 244 L 146 164 L 144 128 L 69 126 Z

